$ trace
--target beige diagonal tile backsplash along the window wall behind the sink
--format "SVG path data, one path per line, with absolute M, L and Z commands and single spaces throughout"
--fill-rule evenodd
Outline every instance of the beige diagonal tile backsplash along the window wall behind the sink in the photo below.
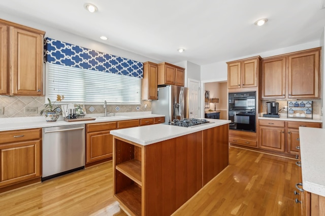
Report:
M 0 96 L 0 118 L 40 116 L 40 110 L 45 108 L 45 103 L 45 97 Z M 104 113 L 103 105 L 85 105 L 86 113 Z M 107 112 L 111 113 L 144 111 L 151 111 L 150 101 L 141 101 L 141 105 L 107 105 Z

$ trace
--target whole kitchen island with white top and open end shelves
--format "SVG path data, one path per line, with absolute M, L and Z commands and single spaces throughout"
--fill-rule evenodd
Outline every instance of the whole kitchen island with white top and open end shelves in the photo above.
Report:
M 171 215 L 228 166 L 229 120 L 111 131 L 114 197 L 131 215 Z

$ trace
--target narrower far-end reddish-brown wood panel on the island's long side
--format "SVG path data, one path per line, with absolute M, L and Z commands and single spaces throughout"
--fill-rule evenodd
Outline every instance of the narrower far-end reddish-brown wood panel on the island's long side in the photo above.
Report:
M 228 131 L 228 124 L 203 131 L 203 186 L 228 166 Z

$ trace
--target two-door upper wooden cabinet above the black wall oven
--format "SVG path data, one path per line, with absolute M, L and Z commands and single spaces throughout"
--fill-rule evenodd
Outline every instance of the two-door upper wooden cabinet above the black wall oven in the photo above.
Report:
M 227 62 L 228 89 L 233 91 L 247 91 L 248 88 L 258 87 L 258 72 L 261 57 L 252 57 L 239 61 Z

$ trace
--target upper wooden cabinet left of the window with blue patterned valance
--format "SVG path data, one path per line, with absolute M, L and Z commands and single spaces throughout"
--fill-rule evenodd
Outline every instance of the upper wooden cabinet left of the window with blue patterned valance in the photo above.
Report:
M 0 94 L 42 95 L 45 32 L 0 20 Z

